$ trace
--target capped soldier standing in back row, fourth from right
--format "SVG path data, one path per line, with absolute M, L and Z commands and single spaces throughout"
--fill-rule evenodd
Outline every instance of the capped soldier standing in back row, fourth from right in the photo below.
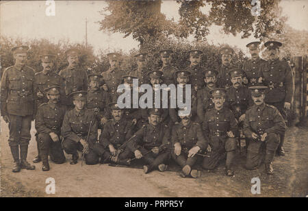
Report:
M 186 71 L 190 71 L 192 75 L 190 75 L 190 84 L 192 84 L 192 88 L 197 92 L 201 90 L 201 88 L 205 87 L 205 83 L 203 80 L 203 68 L 201 67 L 201 55 L 202 51 L 192 50 L 190 53 L 190 66 L 186 68 Z

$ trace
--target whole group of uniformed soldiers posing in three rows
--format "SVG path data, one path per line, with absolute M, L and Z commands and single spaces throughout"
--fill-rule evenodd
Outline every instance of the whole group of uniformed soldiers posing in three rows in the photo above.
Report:
M 272 174 L 274 155 L 284 156 L 286 110 L 293 97 L 293 76 L 287 62 L 279 60 L 281 42 L 264 45 L 268 61 L 259 57 L 261 42 L 248 47 L 251 60 L 232 66 L 233 49 L 220 49 L 218 69 L 203 69 L 202 51 L 189 51 L 190 66 L 178 70 L 171 64 L 172 51 L 159 51 L 162 69 L 147 68 L 147 53 L 136 55 L 138 68 L 120 69 L 120 54 L 107 54 L 110 69 L 87 75 L 79 66 L 77 49 L 66 51 L 68 66 L 55 73 L 55 55 L 40 55 L 43 71 L 26 66 L 29 47 L 14 47 L 15 64 L 1 77 L 1 116 L 8 123 L 8 140 L 14 159 L 13 172 L 34 170 L 27 162 L 31 121 L 35 120 L 38 156 L 42 171 L 55 164 L 131 165 L 142 162 L 144 173 L 166 171 L 168 160 L 181 166 L 181 177 L 200 177 L 196 166 L 214 169 L 226 159 L 226 174 L 234 175 L 234 158 L 240 138 L 246 138 L 246 169 L 262 162 Z M 120 108 L 118 85 L 133 89 L 141 84 L 191 84 L 191 111 L 187 108 Z M 185 96 L 177 96 L 183 97 Z M 153 97 L 155 98 L 155 97 Z M 164 101 L 164 99 L 160 99 Z M 133 100 L 131 100 L 133 103 Z M 155 104 L 155 99 L 153 99 Z M 99 136 L 99 131 L 101 131 Z M 242 132 L 242 133 L 241 133 Z

